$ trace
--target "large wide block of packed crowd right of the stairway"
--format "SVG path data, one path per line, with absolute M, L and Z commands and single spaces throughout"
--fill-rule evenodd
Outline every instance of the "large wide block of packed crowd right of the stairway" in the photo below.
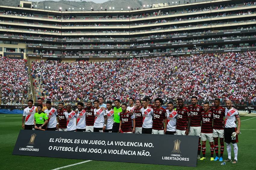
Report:
M 34 61 L 32 74 L 47 98 L 106 100 L 178 97 L 256 101 L 256 52 L 133 58 L 105 62 Z

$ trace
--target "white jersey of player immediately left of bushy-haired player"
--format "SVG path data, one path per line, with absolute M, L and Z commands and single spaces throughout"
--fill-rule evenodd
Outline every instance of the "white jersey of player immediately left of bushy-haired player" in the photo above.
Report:
M 143 128 L 152 128 L 153 126 L 153 115 L 154 115 L 154 110 L 151 107 L 147 107 L 144 109 L 143 107 L 141 108 L 142 116 L 143 116 Z M 136 125 L 135 125 L 136 126 Z

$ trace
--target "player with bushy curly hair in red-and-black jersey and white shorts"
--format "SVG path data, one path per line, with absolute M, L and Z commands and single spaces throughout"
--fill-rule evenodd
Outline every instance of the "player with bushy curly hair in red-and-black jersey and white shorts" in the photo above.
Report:
M 166 132 L 166 128 L 164 127 L 164 123 L 167 124 L 166 110 L 161 107 L 162 104 L 163 100 L 161 98 L 155 99 L 152 134 L 164 135 Z

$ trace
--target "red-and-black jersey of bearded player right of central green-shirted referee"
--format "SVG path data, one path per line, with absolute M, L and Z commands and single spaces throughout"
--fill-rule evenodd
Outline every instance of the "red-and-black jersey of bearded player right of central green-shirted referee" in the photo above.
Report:
M 130 115 L 129 111 L 126 113 L 120 113 L 120 120 L 122 121 L 121 130 L 123 132 L 131 132 L 132 131 L 132 120 L 134 119 L 134 114 Z M 136 124 L 136 123 L 135 123 Z

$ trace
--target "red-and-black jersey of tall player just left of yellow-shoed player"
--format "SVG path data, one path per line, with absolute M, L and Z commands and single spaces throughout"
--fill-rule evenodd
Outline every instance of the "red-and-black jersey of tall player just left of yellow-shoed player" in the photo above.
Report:
M 204 110 L 202 106 L 193 106 L 189 105 L 188 109 L 190 111 L 191 116 L 191 124 L 192 127 L 200 127 L 201 126 L 201 112 Z

